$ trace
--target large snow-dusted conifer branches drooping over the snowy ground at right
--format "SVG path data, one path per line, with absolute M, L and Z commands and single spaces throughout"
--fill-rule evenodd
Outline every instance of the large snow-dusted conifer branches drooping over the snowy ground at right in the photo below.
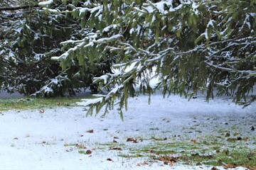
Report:
M 216 88 L 237 102 L 255 100 L 246 97 L 256 81 L 255 0 L 65 0 L 68 11 L 52 10 L 55 2 L 48 2 L 47 10 L 71 14 L 88 30 L 81 40 L 61 42 L 66 52 L 53 60 L 63 69 L 75 58 L 86 70 L 106 64 L 115 70 L 95 77 L 111 90 L 86 103 L 90 113 L 118 98 L 122 115 L 135 85 L 149 95 L 163 89 L 191 98 L 206 91 L 209 99 Z M 159 84 L 151 89 L 154 77 Z

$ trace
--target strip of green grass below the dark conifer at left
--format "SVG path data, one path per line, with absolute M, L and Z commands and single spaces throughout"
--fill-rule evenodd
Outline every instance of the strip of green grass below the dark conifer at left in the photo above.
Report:
M 0 98 L 0 111 L 76 106 L 81 98 Z

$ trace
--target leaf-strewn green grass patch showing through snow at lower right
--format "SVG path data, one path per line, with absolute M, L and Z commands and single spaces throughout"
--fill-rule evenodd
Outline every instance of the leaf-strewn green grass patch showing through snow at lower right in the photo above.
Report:
M 125 145 L 129 152 L 121 153 L 118 156 L 124 158 L 148 157 L 152 162 L 174 157 L 177 162 L 191 166 L 239 164 L 250 169 L 256 166 L 255 140 L 255 137 L 250 137 L 249 140 L 228 142 L 227 137 L 217 136 L 203 137 L 196 142 L 190 140 L 157 140 L 141 147 Z M 163 164 L 165 163 L 163 162 Z

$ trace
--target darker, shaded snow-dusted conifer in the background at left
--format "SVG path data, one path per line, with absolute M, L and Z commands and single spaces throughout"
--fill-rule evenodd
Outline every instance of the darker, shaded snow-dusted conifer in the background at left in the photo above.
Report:
M 73 16 L 45 11 L 35 0 L 0 4 L 0 89 L 36 96 L 74 95 L 87 86 L 97 90 L 92 76 L 100 72 L 87 72 L 77 59 L 63 70 L 51 60 L 61 55 L 60 42 L 80 40 L 87 33 Z M 64 11 L 68 6 L 55 1 L 53 8 Z

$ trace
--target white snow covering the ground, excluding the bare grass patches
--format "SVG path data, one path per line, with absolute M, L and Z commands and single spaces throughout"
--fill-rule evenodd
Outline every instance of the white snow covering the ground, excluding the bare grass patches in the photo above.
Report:
M 167 137 L 167 142 L 174 136 L 191 140 L 213 135 L 220 128 L 232 130 L 234 127 L 244 136 L 255 136 L 255 131 L 250 130 L 250 126 L 256 123 L 255 103 L 242 109 L 229 98 L 215 98 L 206 103 L 203 97 L 198 97 L 188 102 L 179 96 L 162 98 L 161 94 L 151 97 L 150 106 L 147 101 L 147 96 L 130 98 L 124 122 L 117 111 L 110 112 L 105 118 L 100 118 L 100 115 L 86 117 L 83 107 L 45 108 L 44 113 L 37 110 L 1 111 L 0 169 L 210 170 L 213 166 L 170 166 L 163 165 L 163 162 L 137 166 L 147 158 L 117 155 L 128 152 L 126 145 L 134 148 L 154 145 L 154 141 L 146 140 L 151 137 Z M 128 137 L 144 140 L 128 144 Z M 110 148 L 113 140 L 125 144 L 120 145 L 122 150 Z M 92 154 L 80 154 L 81 148 L 76 144 L 87 147 Z

